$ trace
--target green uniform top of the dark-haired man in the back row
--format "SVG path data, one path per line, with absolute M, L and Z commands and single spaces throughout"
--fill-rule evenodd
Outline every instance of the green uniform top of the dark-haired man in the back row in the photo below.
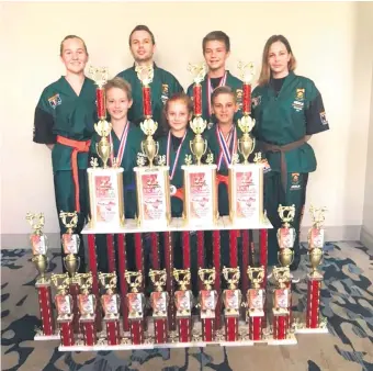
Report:
M 128 111 L 128 120 L 135 125 L 139 125 L 144 120 L 143 86 L 135 71 L 135 66 L 125 69 L 117 76 L 127 80 L 132 87 L 134 104 Z M 154 64 L 154 78 L 150 83 L 150 90 L 152 120 L 158 123 L 158 130 L 155 134 L 155 138 L 157 138 L 162 134 L 162 110 L 166 101 L 174 93 L 182 92 L 183 88 L 173 75 Z

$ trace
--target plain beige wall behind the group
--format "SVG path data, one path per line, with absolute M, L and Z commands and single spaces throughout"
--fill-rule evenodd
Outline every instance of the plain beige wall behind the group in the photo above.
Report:
M 144 23 L 156 35 L 156 61 L 184 87 L 191 82 L 188 61 L 202 58 L 202 37 L 212 30 L 230 35 L 228 67 L 235 74 L 238 59 L 259 65 L 270 35 L 289 37 L 298 60 L 297 74 L 312 78 L 323 92 L 331 127 L 310 142 L 318 170 L 309 179 L 307 206 L 313 202 L 328 207 L 328 229 L 338 232 L 332 238 L 346 237 L 342 231 L 358 238 L 371 75 L 365 60 L 357 59 L 355 47 L 363 35 L 359 16 L 373 19 L 372 3 L 363 12 L 359 7 L 352 2 L 3 3 L 0 26 L 7 57 L 1 58 L 1 82 L 9 89 L 7 109 L 1 111 L 1 233 L 7 237 L 29 233 L 27 211 L 44 212 L 45 231 L 58 231 L 50 154 L 32 143 L 32 127 L 42 89 L 64 72 L 60 40 L 71 33 L 81 35 L 91 64 L 108 66 L 114 75 L 132 64 L 127 37 L 136 24 Z M 372 43 L 365 48 L 372 49 Z M 306 214 L 304 225 L 309 223 Z

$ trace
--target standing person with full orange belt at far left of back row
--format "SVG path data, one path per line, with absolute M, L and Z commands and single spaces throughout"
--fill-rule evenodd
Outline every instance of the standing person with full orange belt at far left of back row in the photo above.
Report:
M 78 212 L 76 233 L 88 215 L 87 167 L 90 138 L 95 122 L 95 86 L 84 76 L 88 53 L 75 35 L 64 38 L 60 57 L 66 76 L 46 87 L 35 110 L 33 140 L 52 149 L 57 212 Z M 59 220 L 59 218 L 58 218 Z M 61 234 L 66 227 L 59 220 Z M 63 249 L 64 257 L 64 249 Z M 80 238 L 79 271 L 86 270 Z M 64 272 L 66 271 L 63 263 Z

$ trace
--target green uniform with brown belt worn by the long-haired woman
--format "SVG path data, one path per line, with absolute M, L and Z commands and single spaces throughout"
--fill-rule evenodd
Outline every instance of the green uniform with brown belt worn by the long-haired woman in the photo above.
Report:
M 271 167 L 264 180 L 264 209 L 274 227 L 269 231 L 269 265 L 278 263 L 279 204 L 294 204 L 296 240 L 291 268 L 296 269 L 308 172 L 316 170 L 315 154 L 305 136 L 329 128 L 323 98 L 312 80 L 291 71 L 252 91 L 252 116 L 253 134 Z

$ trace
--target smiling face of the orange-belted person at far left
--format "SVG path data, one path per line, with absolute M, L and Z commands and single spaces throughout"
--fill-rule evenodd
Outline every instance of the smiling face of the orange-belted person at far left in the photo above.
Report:
M 72 74 L 80 74 L 84 70 L 88 54 L 84 44 L 80 38 L 68 38 L 63 44 L 61 60 L 66 70 Z

